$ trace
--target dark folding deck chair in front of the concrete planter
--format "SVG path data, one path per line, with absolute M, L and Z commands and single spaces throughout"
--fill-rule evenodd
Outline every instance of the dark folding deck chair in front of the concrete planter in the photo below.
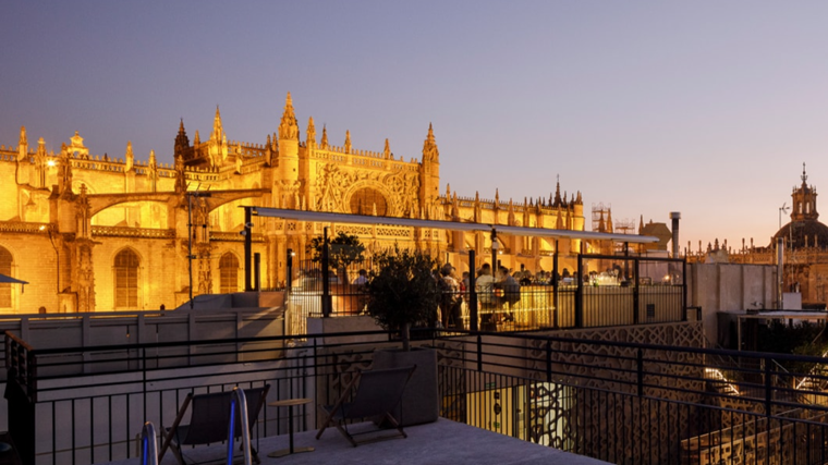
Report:
M 336 426 L 345 439 L 356 445 L 365 442 L 381 441 L 385 439 L 407 438 L 409 436 L 400 426 L 400 423 L 391 414 L 402 400 L 405 384 L 411 379 L 416 365 L 400 368 L 383 368 L 368 371 L 357 371 L 354 379 L 345 387 L 342 395 L 333 405 L 320 405 L 327 414 L 321 429 L 316 433 L 316 439 L 321 438 L 328 426 Z M 358 383 L 358 384 L 357 384 Z M 353 401 L 348 402 L 353 395 Z M 373 429 L 358 433 L 348 431 L 348 421 L 372 418 L 376 424 L 387 421 L 397 428 L 399 435 L 375 436 L 370 439 L 356 441 L 354 436 L 376 433 L 379 429 Z

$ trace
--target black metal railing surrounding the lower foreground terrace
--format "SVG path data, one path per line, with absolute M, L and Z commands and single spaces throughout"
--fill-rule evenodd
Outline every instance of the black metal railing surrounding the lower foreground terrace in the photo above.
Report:
M 812 388 L 818 382 L 796 389 L 804 376 L 826 377 L 776 364 L 828 362 L 820 357 L 539 333 L 427 334 L 418 343 L 439 354 L 441 415 L 472 426 L 612 463 L 816 464 L 828 455 L 828 393 Z M 32 442 L 24 463 L 135 457 L 143 424 L 170 425 L 187 393 L 270 383 L 271 400 L 314 400 L 294 412 L 296 431 L 313 430 L 315 405 L 369 368 L 375 348 L 397 346 L 386 332 L 324 338 L 327 344 L 307 334 L 295 347 L 285 346 L 287 336 L 28 347 L 36 376 L 9 379 L 32 395 L 9 400 L 22 407 L 10 428 L 19 449 Z M 7 333 L 7 347 L 11 339 Z M 31 428 L 21 431 L 25 419 Z M 254 440 L 281 433 L 284 412 L 265 408 Z

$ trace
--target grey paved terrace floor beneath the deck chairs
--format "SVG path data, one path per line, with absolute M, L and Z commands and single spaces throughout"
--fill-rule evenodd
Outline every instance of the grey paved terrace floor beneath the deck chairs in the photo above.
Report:
M 349 426 L 349 430 L 360 431 L 374 428 L 372 424 Z M 395 432 L 386 430 L 381 433 Z M 267 454 L 288 448 L 288 435 L 276 436 L 259 440 L 259 457 L 263 465 L 409 465 L 409 464 L 549 464 L 549 465 L 598 465 L 606 464 L 595 458 L 562 452 L 557 449 L 538 445 L 516 438 L 486 431 L 468 425 L 440 418 L 437 423 L 405 428 L 406 439 L 351 445 L 337 431 L 328 428 L 320 440 L 316 440 L 316 431 L 305 431 L 294 436 L 294 448 L 313 446 L 313 452 L 288 455 L 281 458 L 268 457 Z M 368 435 L 360 440 L 369 438 Z M 160 446 L 160 444 L 159 444 Z M 238 449 L 236 449 L 238 450 Z M 184 455 L 196 463 L 223 463 L 223 445 L 184 450 Z M 215 462 L 210 462 L 215 458 Z M 111 465 L 132 465 L 139 460 L 112 462 Z M 174 465 L 176 461 L 171 452 L 167 452 L 162 465 Z

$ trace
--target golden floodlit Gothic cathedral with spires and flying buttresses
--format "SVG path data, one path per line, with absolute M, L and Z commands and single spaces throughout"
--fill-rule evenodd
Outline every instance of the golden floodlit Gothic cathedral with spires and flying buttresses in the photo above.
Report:
M 0 146 L 0 273 L 28 284 L 0 284 L 0 313 L 174 308 L 191 293 L 242 291 L 241 206 L 374 215 L 375 225 L 334 224 L 330 233 L 355 234 L 369 250 L 394 243 L 427 250 L 459 270 L 467 269 L 468 249 L 480 260 L 490 254 L 487 234 L 382 225 L 380 217 L 584 230 L 581 193 L 561 194 L 560 184 L 522 203 L 459 196 L 448 184 L 441 191 L 430 125 L 419 159 L 395 157 L 388 139 L 381 151 L 354 148 L 348 132 L 333 146 L 313 118 L 300 134 L 288 94 L 278 127 L 263 139 L 229 139 L 217 108 L 204 140 L 196 131 L 191 142 L 182 120 L 169 166 L 154 151 L 137 159 L 131 143 L 122 158 L 92 155 L 77 132 L 59 154 L 47 152 L 21 127 L 16 147 Z M 331 227 L 253 223 L 261 289 L 283 285 L 288 249 L 305 259 L 306 245 Z M 579 240 L 498 241 L 506 266 L 532 271 L 550 270 L 556 252 L 569 257 L 561 267 L 574 269 L 571 250 L 581 247 Z

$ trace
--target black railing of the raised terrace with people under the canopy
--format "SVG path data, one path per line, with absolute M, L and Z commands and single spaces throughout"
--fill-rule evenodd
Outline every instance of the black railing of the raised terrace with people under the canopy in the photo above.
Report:
M 467 285 L 459 309 L 440 305 L 434 320 L 445 328 L 485 331 L 531 331 L 599 328 L 686 321 L 685 262 L 681 259 L 616 255 L 579 255 L 574 276 L 520 286 L 520 292 Z M 325 274 L 319 264 L 292 267 L 285 299 L 288 333 L 306 332 L 308 317 L 341 317 L 365 311 L 364 286 L 354 284 L 358 270 L 370 262 L 352 264 Z M 592 271 L 587 271 L 592 270 Z M 529 281 L 531 282 L 531 281 Z M 476 294 L 477 298 L 473 298 Z M 450 299 L 443 299 L 450 301 Z M 473 303 L 476 302 L 476 307 Z M 330 311 L 326 314 L 325 309 Z M 443 314 L 451 317 L 443 318 Z M 430 325 L 430 321 L 424 321 Z

